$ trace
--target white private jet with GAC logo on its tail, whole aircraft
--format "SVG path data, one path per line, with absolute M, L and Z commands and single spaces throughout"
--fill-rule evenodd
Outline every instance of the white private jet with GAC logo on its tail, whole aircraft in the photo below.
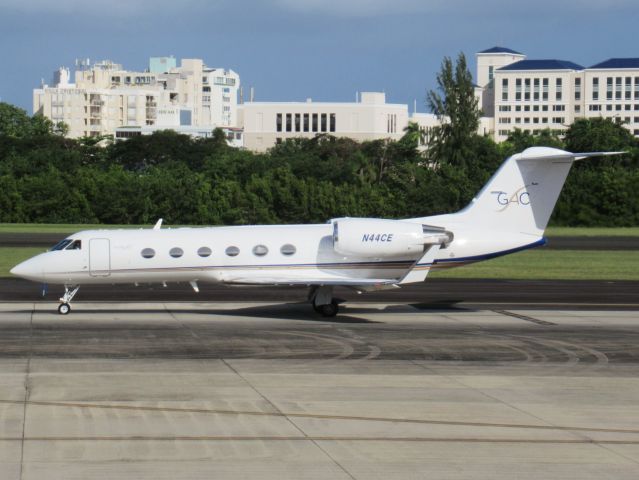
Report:
M 335 286 L 370 291 L 423 282 L 456 267 L 546 243 L 544 229 L 573 162 L 623 152 L 533 147 L 508 158 L 471 203 L 447 215 L 336 218 L 321 225 L 87 230 L 20 263 L 11 273 L 64 285 L 67 314 L 81 284 L 198 282 L 305 285 L 334 316 Z

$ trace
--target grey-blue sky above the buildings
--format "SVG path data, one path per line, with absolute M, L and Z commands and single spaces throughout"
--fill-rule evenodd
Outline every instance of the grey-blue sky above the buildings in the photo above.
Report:
M 496 45 L 590 66 L 639 57 L 637 0 L 0 0 L 0 101 L 76 58 L 129 70 L 151 56 L 239 73 L 256 101 L 387 101 L 427 111 L 445 56 Z

